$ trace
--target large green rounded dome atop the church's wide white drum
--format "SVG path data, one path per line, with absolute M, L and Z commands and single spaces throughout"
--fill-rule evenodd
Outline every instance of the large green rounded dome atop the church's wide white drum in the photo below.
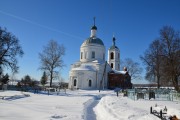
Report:
M 89 37 L 87 38 L 82 45 L 90 45 L 90 44 L 99 44 L 99 45 L 103 45 L 104 43 L 101 39 L 97 38 L 97 37 Z

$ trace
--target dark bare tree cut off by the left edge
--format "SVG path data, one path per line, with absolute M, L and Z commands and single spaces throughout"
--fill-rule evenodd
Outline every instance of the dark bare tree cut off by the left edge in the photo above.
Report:
M 23 50 L 19 45 L 19 40 L 0 27 L 0 74 L 3 68 L 11 68 L 12 72 L 18 71 L 17 56 L 22 57 Z

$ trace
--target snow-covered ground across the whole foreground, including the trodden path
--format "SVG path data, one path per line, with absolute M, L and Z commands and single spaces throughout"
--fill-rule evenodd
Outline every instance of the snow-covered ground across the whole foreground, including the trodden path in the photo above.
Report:
M 151 106 L 166 106 L 167 115 L 180 118 L 180 102 L 133 101 L 113 91 L 68 90 L 49 96 L 0 91 L 0 120 L 160 120 L 150 114 Z

